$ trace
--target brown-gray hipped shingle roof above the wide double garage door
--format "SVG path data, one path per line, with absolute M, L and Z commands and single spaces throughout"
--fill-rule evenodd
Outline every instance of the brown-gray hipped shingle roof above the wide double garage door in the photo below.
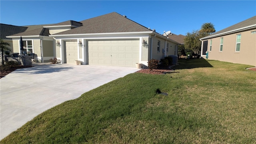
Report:
M 95 18 L 90 18 L 88 20 L 83 20 L 80 22 L 83 24 L 83 26 L 57 34 L 93 34 L 110 32 L 152 31 L 116 12 L 97 16 Z

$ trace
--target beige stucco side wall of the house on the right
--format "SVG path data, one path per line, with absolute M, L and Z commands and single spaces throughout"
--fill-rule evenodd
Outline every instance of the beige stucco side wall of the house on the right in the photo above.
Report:
M 255 30 L 208 39 L 208 59 L 256 66 L 256 34 L 251 34 L 252 31 Z M 237 34 L 241 34 L 240 52 L 236 52 Z M 223 38 L 222 52 L 220 52 L 220 38 Z M 211 51 L 210 40 L 212 40 Z

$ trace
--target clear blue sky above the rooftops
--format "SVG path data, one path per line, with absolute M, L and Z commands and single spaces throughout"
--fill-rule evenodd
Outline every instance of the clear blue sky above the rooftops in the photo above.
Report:
M 16 26 L 81 21 L 117 12 L 160 34 L 186 35 L 212 22 L 216 31 L 256 15 L 256 0 L 0 0 L 0 23 Z

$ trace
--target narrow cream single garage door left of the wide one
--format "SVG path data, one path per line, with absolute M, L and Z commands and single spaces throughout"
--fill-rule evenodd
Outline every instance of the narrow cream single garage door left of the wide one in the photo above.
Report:
M 78 58 L 77 41 L 65 42 L 65 46 L 66 46 L 66 63 L 74 64 L 75 60 L 77 60 Z

